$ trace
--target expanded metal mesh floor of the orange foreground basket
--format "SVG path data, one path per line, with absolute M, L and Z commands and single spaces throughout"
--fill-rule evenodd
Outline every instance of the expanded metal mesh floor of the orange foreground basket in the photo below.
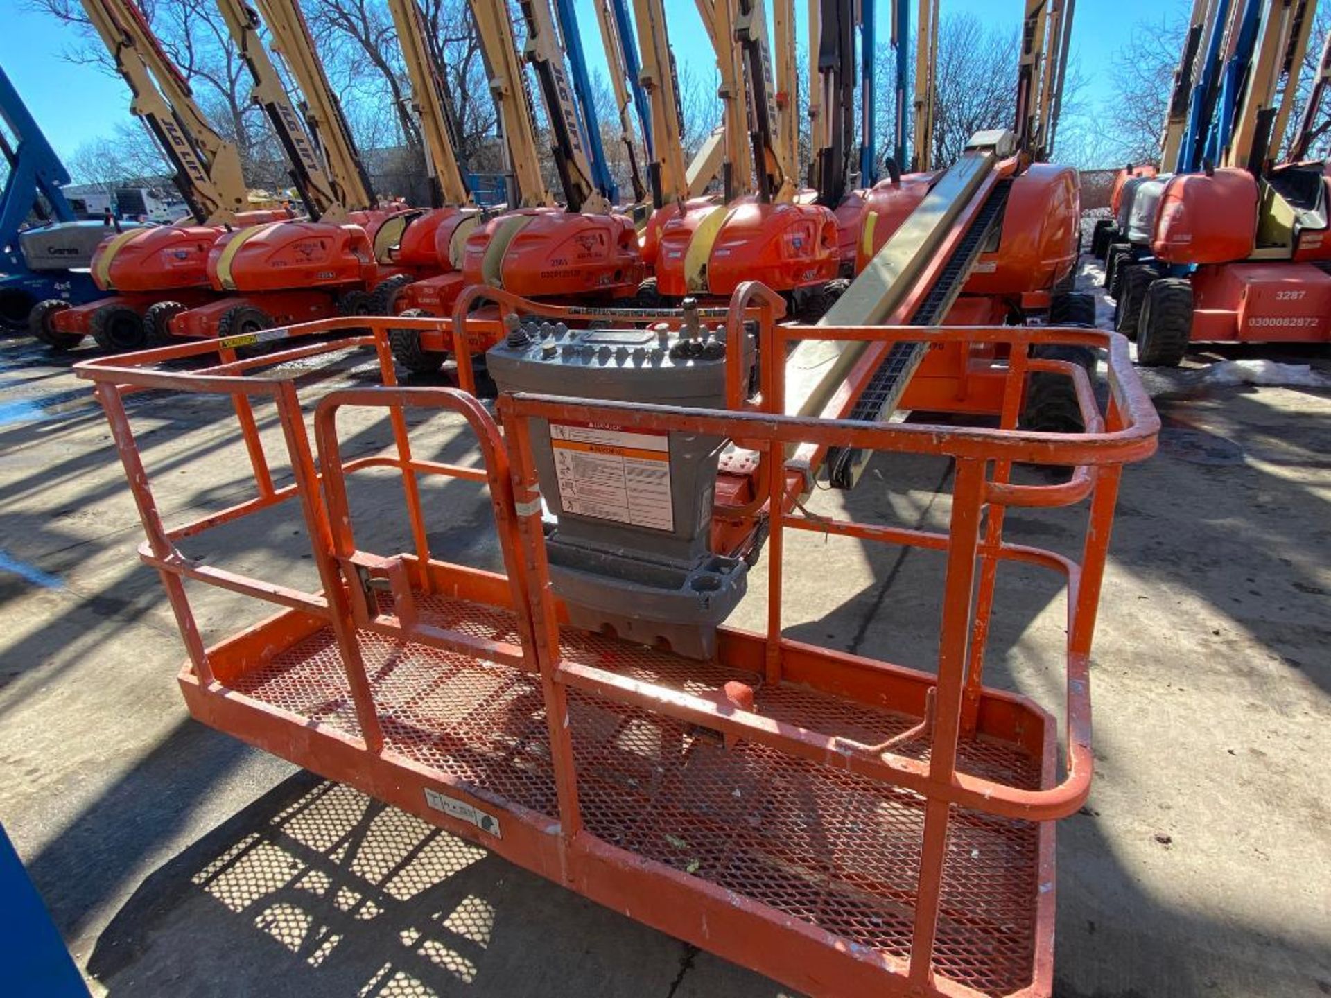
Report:
M 421 596 L 438 627 L 516 641 L 512 615 Z M 359 633 L 386 748 L 542 814 L 558 816 L 536 677 L 507 665 Z M 917 719 L 755 673 L 566 629 L 567 659 L 691 693 L 740 679 L 759 713 L 874 744 Z M 250 669 L 234 688 L 358 735 L 333 633 L 319 631 Z M 924 798 L 900 788 L 571 689 L 570 731 L 586 828 L 599 838 L 817 925 L 849 943 L 906 958 Z M 925 743 L 897 748 L 924 758 Z M 966 741 L 958 768 L 1037 789 L 1040 760 Z M 1038 826 L 953 809 L 934 963 L 985 994 L 1030 982 Z

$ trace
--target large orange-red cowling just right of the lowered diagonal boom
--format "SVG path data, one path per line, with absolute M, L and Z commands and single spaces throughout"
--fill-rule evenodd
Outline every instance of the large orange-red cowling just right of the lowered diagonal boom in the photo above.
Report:
M 1077 263 L 1081 185 L 1077 170 L 1033 164 L 1012 181 L 998 249 L 981 253 L 966 294 L 1047 291 Z

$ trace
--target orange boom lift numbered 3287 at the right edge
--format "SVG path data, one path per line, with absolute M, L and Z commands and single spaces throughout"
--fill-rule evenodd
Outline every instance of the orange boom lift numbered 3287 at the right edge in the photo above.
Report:
M 1145 365 L 1178 365 L 1191 342 L 1331 342 L 1331 181 L 1322 160 L 1306 160 L 1331 37 L 1278 164 L 1315 4 L 1240 1 L 1229 19 L 1217 8 L 1178 172 L 1125 188 L 1131 224 L 1110 248 L 1115 327 Z M 1222 48 L 1229 60 L 1215 72 Z M 1166 152 L 1171 130 L 1166 122 Z

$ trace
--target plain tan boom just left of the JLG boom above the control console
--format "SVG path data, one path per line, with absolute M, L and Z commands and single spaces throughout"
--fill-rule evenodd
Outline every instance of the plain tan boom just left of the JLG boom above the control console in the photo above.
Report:
M 531 120 L 527 88 L 522 85 L 522 61 L 512 37 L 508 7 L 504 0 L 471 0 L 471 13 L 490 72 L 490 93 L 503 126 L 515 200 L 520 208 L 552 205 L 555 198 L 540 176 L 536 126 Z

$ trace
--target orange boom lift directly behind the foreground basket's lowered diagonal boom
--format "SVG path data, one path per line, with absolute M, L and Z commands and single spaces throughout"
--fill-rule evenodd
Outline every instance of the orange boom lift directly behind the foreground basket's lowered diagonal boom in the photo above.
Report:
M 1012 146 L 989 133 L 989 142 L 1010 154 L 997 170 L 986 200 L 985 222 L 972 230 L 972 262 L 962 286 L 936 313 L 938 322 L 960 325 L 1029 323 L 1093 326 L 1090 294 L 1071 290 L 1079 241 L 1081 201 L 1077 172 L 1045 162 L 1054 141 L 1071 27 L 1070 4 L 1028 0 L 1017 73 L 1017 121 Z M 869 265 L 905 225 L 922 221 L 932 196 L 948 173 L 932 169 L 937 3 L 920 4 L 920 52 L 916 67 L 913 172 L 893 172 L 866 197 L 856 271 Z M 965 158 L 965 157 L 962 157 Z M 949 202 L 950 198 L 944 198 Z M 1094 371 L 1094 357 L 1075 347 L 1049 347 L 1057 359 Z M 918 358 L 906 409 L 993 413 L 1001 382 L 1000 355 L 949 345 Z M 1022 420 L 1032 428 L 1078 427 L 1070 383 L 1036 378 Z

